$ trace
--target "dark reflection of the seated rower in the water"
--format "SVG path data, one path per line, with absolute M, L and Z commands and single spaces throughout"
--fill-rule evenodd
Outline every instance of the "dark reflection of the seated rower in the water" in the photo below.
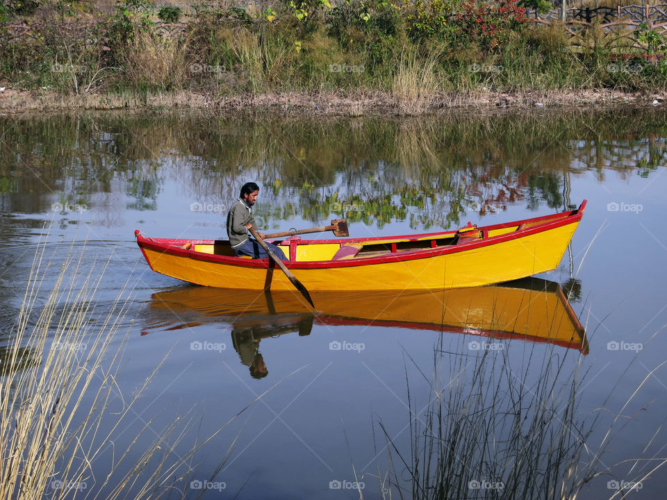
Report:
M 299 332 L 299 336 L 310 335 L 313 315 L 274 316 L 256 324 L 235 325 L 231 331 L 231 343 L 238 353 L 241 364 L 250 369 L 252 378 L 264 378 L 269 374 L 264 358 L 259 352 L 259 342 L 267 337 L 279 337 L 284 333 Z

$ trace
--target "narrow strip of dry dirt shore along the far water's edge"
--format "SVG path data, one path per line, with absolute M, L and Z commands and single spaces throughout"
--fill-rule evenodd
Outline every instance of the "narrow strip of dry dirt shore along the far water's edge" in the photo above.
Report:
M 1 86 L 0 86 L 1 88 Z M 388 92 L 286 92 L 215 97 L 187 91 L 153 94 L 63 95 L 6 87 L 0 92 L 0 113 L 28 111 L 194 108 L 208 110 L 279 110 L 322 115 L 421 115 L 452 108 L 541 108 L 579 106 L 664 106 L 664 92 L 618 90 L 554 90 L 547 92 L 448 92 L 419 102 L 401 101 Z

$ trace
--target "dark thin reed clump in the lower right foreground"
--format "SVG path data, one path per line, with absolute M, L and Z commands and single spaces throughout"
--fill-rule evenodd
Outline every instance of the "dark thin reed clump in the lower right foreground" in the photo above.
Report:
M 440 344 L 430 374 L 418 367 L 429 401 L 418 404 L 408 381 L 409 451 L 379 424 L 389 450 L 388 468 L 377 474 L 383 498 L 575 499 L 593 479 L 613 474 L 620 464 L 607 467 L 602 461 L 611 436 L 641 386 L 667 362 L 641 381 L 596 447 L 591 440 L 593 431 L 600 433 L 600 412 L 579 412 L 587 372 L 583 357 L 561 355 L 553 346 L 511 356 L 512 343 L 495 342 L 504 349 L 472 354 Z M 661 470 L 667 458 L 624 462 L 634 463 L 634 481 L 625 481 L 632 488 Z M 609 497 L 629 492 L 609 490 Z

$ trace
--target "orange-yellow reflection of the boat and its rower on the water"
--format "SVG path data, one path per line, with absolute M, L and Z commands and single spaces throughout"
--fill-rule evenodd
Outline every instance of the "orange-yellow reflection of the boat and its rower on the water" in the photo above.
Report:
M 255 378 L 266 376 L 264 338 L 309 335 L 313 324 L 365 325 L 548 342 L 588 353 L 584 328 L 558 283 L 525 278 L 500 285 L 406 292 L 299 292 L 188 286 L 153 294 L 142 334 L 201 324 L 231 326 L 232 344 Z

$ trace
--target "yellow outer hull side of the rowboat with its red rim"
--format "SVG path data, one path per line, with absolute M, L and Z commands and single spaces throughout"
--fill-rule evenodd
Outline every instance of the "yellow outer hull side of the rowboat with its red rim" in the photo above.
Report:
M 543 223 L 527 219 L 520 221 L 526 226 L 532 224 L 527 229 L 466 244 L 286 265 L 311 292 L 469 288 L 511 281 L 556 269 L 577 229 L 584 204 L 578 211 L 563 213 L 563 217 L 552 216 Z M 497 226 L 489 228 L 500 231 Z M 269 260 L 201 254 L 163 242 L 167 240 L 145 238 L 138 232 L 137 238 L 147 262 L 161 274 L 217 288 L 293 290 L 293 284 Z

